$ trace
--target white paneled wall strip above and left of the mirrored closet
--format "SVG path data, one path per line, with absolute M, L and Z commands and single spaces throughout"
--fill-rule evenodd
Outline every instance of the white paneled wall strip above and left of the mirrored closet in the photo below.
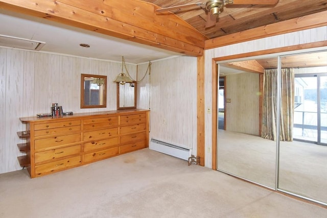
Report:
M 302 30 L 293 33 L 287 33 L 277 36 L 266 37 L 262 39 L 256 39 L 251 41 L 246 41 L 237 44 L 226 45 L 222 47 L 217 47 L 215 49 L 205 50 L 205 103 L 206 108 L 212 107 L 212 86 L 211 86 L 211 76 L 216 72 L 212 72 L 212 59 L 219 58 L 229 55 L 237 55 L 255 51 L 262 51 L 268 49 L 275 49 L 277 47 L 285 47 L 291 45 L 300 45 L 306 44 L 311 42 L 319 42 L 327 40 L 327 26 L 313 28 L 309 30 Z M 205 124 L 211 124 L 212 121 L 212 114 L 207 114 L 205 117 Z M 205 158 L 205 166 L 212 167 L 212 157 L 215 154 L 211 153 L 211 146 L 215 147 L 216 144 L 211 144 L 212 138 L 215 137 L 215 133 L 213 133 L 212 128 L 206 127 L 205 132 L 205 151 L 206 151 L 206 158 Z M 219 141 L 218 141 L 219 144 Z M 208 149 L 209 148 L 209 149 Z

